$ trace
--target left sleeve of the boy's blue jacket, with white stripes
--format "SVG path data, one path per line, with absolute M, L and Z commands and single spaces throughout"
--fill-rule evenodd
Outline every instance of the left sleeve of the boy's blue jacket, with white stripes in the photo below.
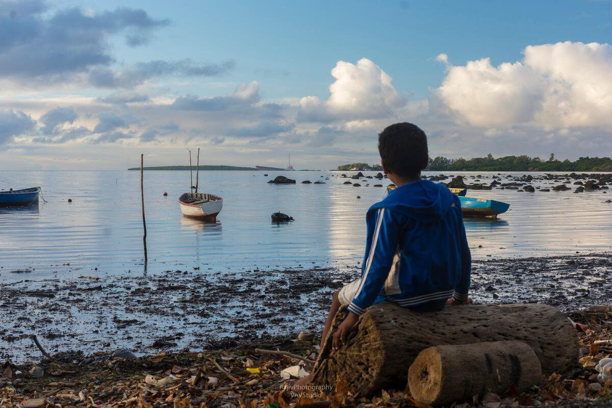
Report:
M 368 228 L 369 231 L 369 228 Z M 365 258 L 364 272 L 359 287 L 348 310 L 357 316 L 364 314 L 368 306 L 373 305 L 393 263 L 399 240 L 400 225 L 388 209 L 376 210 L 374 232 Z

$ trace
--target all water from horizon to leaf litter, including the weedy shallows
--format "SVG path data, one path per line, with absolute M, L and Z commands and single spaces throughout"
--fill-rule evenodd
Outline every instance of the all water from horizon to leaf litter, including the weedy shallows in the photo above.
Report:
M 145 172 L 145 268 L 139 172 L 2 172 L 0 188 L 40 185 L 47 202 L 0 209 L 0 358 L 38 358 L 29 333 L 50 352 L 146 353 L 156 339 L 201 349 L 224 336 L 319 332 L 331 292 L 359 276 L 365 212 L 385 190 L 373 185 L 389 181 L 353 187 L 341 172 L 264 174 L 202 172 L 200 191 L 224 199 L 218 222 L 204 224 L 179 210 L 188 172 Z M 277 174 L 298 184 L 267 184 Z M 494 174 L 463 175 L 488 184 Z M 326 184 L 300 184 L 306 179 Z M 498 220 L 465 220 L 476 302 L 573 310 L 610 298 L 609 253 L 542 258 L 612 249 L 612 195 L 572 190 L 469 192 L 510 203 Z M 277 211 L 295 221 L 272 223 Z M 511 259 L 531 256 L 539 258 Z

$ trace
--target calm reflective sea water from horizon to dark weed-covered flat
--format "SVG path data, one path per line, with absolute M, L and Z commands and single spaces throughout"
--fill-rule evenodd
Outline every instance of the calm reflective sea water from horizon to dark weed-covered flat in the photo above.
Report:
M 155 273 L 179 265 L 215 270 L 359 267 L 365 247 L 365 212 L 385 194 L 385 188 L 373 185 L 386 185 L 389 180 L 368 179 L 359 181 L 362 187 L 353 187 L 343 184 L 347 179 L 339 177 L 340 172 L 264 174 L 200 172 L 200 191 L 223 197 L 217 223 L 206 224 L 182 217 L 179 210 L 177 198 L 189 191 L 188 171 L 145 172 L 147 269 Z M 295 178 L 297 184 L 267 184 L 278 174 Z M 488 183 L 497 172 L 461 174 L 468 177 L 468 183 L 472 182 L 469 177 L 477 174 Z M 503 176 L 507 174 L 523 173 Z M 326 184 L 300 184 L 303 180 Z M 532 183 L 534 187 L 556 184 Z M 42 187 L 47 202 L 0 208 L 1 281 L 23 279 L 24 275 L 7 273 L 15 269 L 32 270 L 28 278 L 144 269 L 140 172 L 0 172 L 0 188 L 5 190 L 36 185 Z M 163 196 L 164 191 L 168 196 Z M 469 196 L 510 203 L 509 211 L 498 220 L 465 220 L 472 256 L 486 259 L 609 251 L 612 204 L 605 201 L 612 198 L 612 190 L 608 191 L 469 191 Z M 277 211 L 295 221 L 272 223 L 270 215 Z

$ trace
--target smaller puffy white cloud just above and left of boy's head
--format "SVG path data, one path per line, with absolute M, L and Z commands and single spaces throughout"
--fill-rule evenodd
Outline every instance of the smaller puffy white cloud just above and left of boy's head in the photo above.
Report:
M 297 119 L 300 122 L 329 123 L 393 117 L 406 100 L 392 86 L 392 78 L 367 58 L 357 64 L 338 61 L 326 101 L 315 96 L 300 99 Z

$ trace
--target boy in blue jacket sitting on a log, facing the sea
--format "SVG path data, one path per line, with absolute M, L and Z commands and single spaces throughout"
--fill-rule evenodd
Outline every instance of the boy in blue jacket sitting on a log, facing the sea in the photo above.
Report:
M 390 125 L 378 136 L 378 150 L 383 171 L 397 188 L 367 212 L 361 278 L 334 293 L 321 349 L 341 305 L 348 305 L 349 313 L 334 335 L 336 350 L 365 309 L 383 300 L 419 312 L 471 303 L 471 255 L 459 199 L 420 176 L 429 160 L 427 136 L 413 124 Z

